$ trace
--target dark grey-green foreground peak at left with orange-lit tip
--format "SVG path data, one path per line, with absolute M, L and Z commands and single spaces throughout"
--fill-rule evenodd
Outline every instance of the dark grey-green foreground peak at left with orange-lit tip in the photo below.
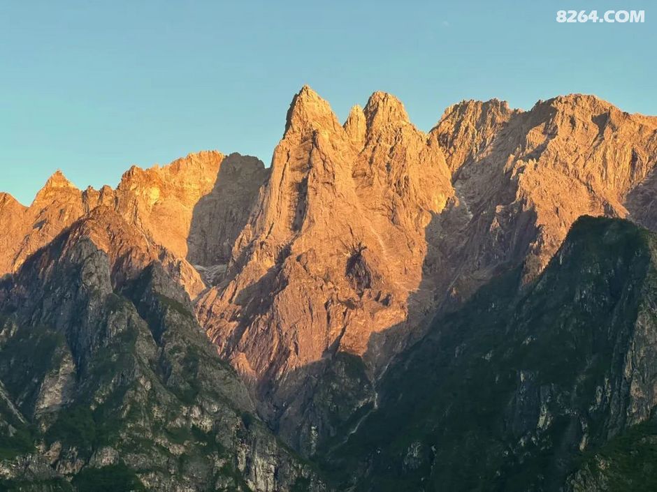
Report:
M 101 206 L 0 285 L 3 488 L 323 489 L 254 415 L 167 261 Z

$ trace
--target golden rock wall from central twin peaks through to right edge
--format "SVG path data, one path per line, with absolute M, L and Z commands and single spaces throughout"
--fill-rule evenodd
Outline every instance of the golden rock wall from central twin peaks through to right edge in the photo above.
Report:
M 322 408 L 337 401 L 314 381 L 346 389 L 351 370 L 363 387 L 347 390 L 352 412 L 363 411 L 377 374 L 431 315 L 502 271 L 521 265 L 535 278 L 579 216 L 629 209 L 649 224 L 656 132 L 656 118 L 578 94 L 528 112 L 467 101 L 424 135 L 396 98 L 375 93 L 340 126 L 304 87 L 199 319 L 270 422 L 312 454 L 335 434 Z

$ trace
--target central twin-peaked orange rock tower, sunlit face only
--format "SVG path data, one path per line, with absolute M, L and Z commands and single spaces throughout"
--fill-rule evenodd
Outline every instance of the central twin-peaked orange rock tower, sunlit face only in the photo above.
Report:
M 405 329 L 424 230 L 452 193 L 438 142 L 394 96 L 373 94 L 345 127 L 310 88 L 295 96 L 226 280 L 197 308 L 276 418 L 312 366 L 338 352 L 365 355 L 372 334 Z

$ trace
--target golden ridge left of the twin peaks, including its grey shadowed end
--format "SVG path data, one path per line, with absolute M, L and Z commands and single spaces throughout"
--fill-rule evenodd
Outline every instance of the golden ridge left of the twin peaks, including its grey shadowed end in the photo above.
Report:
M 29 207 L 0 195 L 0 274 L 16 271 L 79 218 L 105 207 L 159 248 L 162 262 L 177 265 L 176 278 L 194 298 L 205 284 L 185 259 L 201 266 L 226 263 L 265 175 L 257 159 L 224 158 L 217 151 L 189 154 L 164 167 L 133 166 L 116 190 L 80 191 L 57 171 Z

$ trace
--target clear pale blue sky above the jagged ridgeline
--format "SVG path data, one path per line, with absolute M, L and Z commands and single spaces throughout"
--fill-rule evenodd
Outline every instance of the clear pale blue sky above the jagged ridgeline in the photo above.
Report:
M 561 8 L 646 22 L 559 24 Z M 0 191 L 29 204 L 57 168 L 115 186 L 202 149 L 268 165 L 303 84 L 340 119 L 389 91 L 425 131 L 470 98 L 657 114 L 656 49 L 649 0 L 0 0 Z

